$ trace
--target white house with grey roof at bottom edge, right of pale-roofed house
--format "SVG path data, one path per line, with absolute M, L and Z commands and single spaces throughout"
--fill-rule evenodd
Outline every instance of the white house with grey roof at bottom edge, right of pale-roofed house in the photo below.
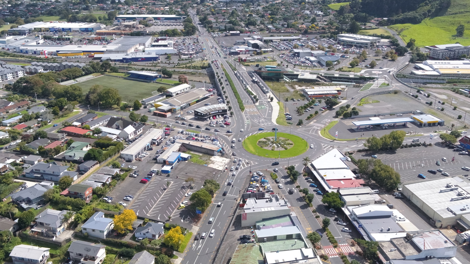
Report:
M 86 241 L 72 241 L 69 249 L 70 258 L 82 264 L 101 264 L 106 256 L 105 246 Z

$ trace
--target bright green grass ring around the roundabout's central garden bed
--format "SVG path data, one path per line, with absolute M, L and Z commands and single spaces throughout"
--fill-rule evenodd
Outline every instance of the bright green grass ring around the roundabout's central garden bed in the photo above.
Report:
M 281 132 L 277 132 L 277 136 L 289 139 L 290 141 L 294 143 L 294 146 L 292 148 L 281 150 L 281 151 L 267 150 L 264 148 L 260 148 L 257 145 L 258 140 L 265 138 L 265 137 L 274 137 L 274 132 L 262 132 L 262 133 L 249 136 L 245 140 L 243 140 L 243 148 L 245 148 L 245 150 L 250 152 L 251 154 L 262 156 L 262 157 L 268 157 L 268 158 L 294 157 L 294 156 L 298 156 L 304 153 L 308 149 L 307 141 L 303 140 L 302 138 L 298 136 L 294 136 L 294 135 L 287 134 L 287 133 L 281 133 Z

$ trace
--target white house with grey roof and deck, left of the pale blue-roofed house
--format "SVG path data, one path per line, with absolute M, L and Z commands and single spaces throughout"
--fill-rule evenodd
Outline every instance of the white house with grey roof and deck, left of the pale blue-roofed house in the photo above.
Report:
M 32 231 L 41 232 L 43 236 L 59 236 L 65 231 L 66 226 L 73 220 L 74 216 L 69 216 L 67 210 L 53 210 L 47 208 L 36 216 L 36 225 Z M 72 212 L 75 213 L 75 212 Z M 70 217 L 70 218 L 68 218 Z

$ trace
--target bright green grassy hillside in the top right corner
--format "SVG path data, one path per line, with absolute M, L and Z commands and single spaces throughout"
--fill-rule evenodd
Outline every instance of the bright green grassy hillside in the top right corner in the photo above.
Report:
M 454 37 L 459 24 L 465 26 L 462 38 Z M 416 39 L 416 45 L 420 47 L 455 42 L 469 46 L 470 0 L 452 0 L 442 16 L 426 18 L 419 24 L 395 24 L 390 27 L 399 32 L 405 42 L 410 38 Z

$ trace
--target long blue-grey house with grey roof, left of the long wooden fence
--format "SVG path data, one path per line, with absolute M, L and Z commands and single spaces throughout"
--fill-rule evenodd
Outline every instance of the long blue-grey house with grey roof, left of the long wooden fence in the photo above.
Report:
M 67 171 L 69 166 L 57 165 L 57 163 L 39 162 L 24 170 L 24 177 L 58 182 L 64 176 L 77 179 L 77 171 Z

